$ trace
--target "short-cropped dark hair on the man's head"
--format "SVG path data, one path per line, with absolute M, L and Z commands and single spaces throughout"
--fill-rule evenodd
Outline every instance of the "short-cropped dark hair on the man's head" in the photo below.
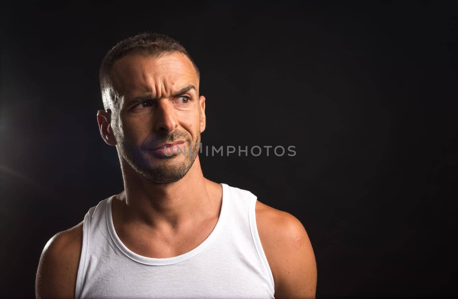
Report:
M 124 39 L 116 44 L 102 60 L 102 66 L 100 66 L 99 80 L 100 80 L 100 91 L 102 92 L 102 100 L 105 107 L 107 107 L 107 97 L 111 98 L 111 101 L 115 101 L 116 95 L 113 94 L 113 90 L 106 93 L 106 89 L 111 89 L 111 68 L 114 62 L 125 56 L 128 53 L 145 53 L 153 57 L 160 57 L 165 54 L 181 53 L 189 58 L 194 65 L 197 72 L 197 78 L 200 81 L 199 68 L 196 63 L 186 51 L 185 47 L 180 44 L 179 41 L 173 39 L 164 34 L 158 33 L 139 33 L 136 36 Z M 109 105 L 108 105 L 109 106 Z

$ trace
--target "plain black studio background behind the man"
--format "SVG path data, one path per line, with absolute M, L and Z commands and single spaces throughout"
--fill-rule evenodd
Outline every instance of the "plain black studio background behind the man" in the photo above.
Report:
M 143 31 L 199 66 L 204 145 L 296 147 L 201 162 L 304 224 L 317 296 L 458 295 L 456 2 L 163 2 L 2 5 L 3 296 L 32 297 L 49 238 L 122 190 L 98 67 Z

